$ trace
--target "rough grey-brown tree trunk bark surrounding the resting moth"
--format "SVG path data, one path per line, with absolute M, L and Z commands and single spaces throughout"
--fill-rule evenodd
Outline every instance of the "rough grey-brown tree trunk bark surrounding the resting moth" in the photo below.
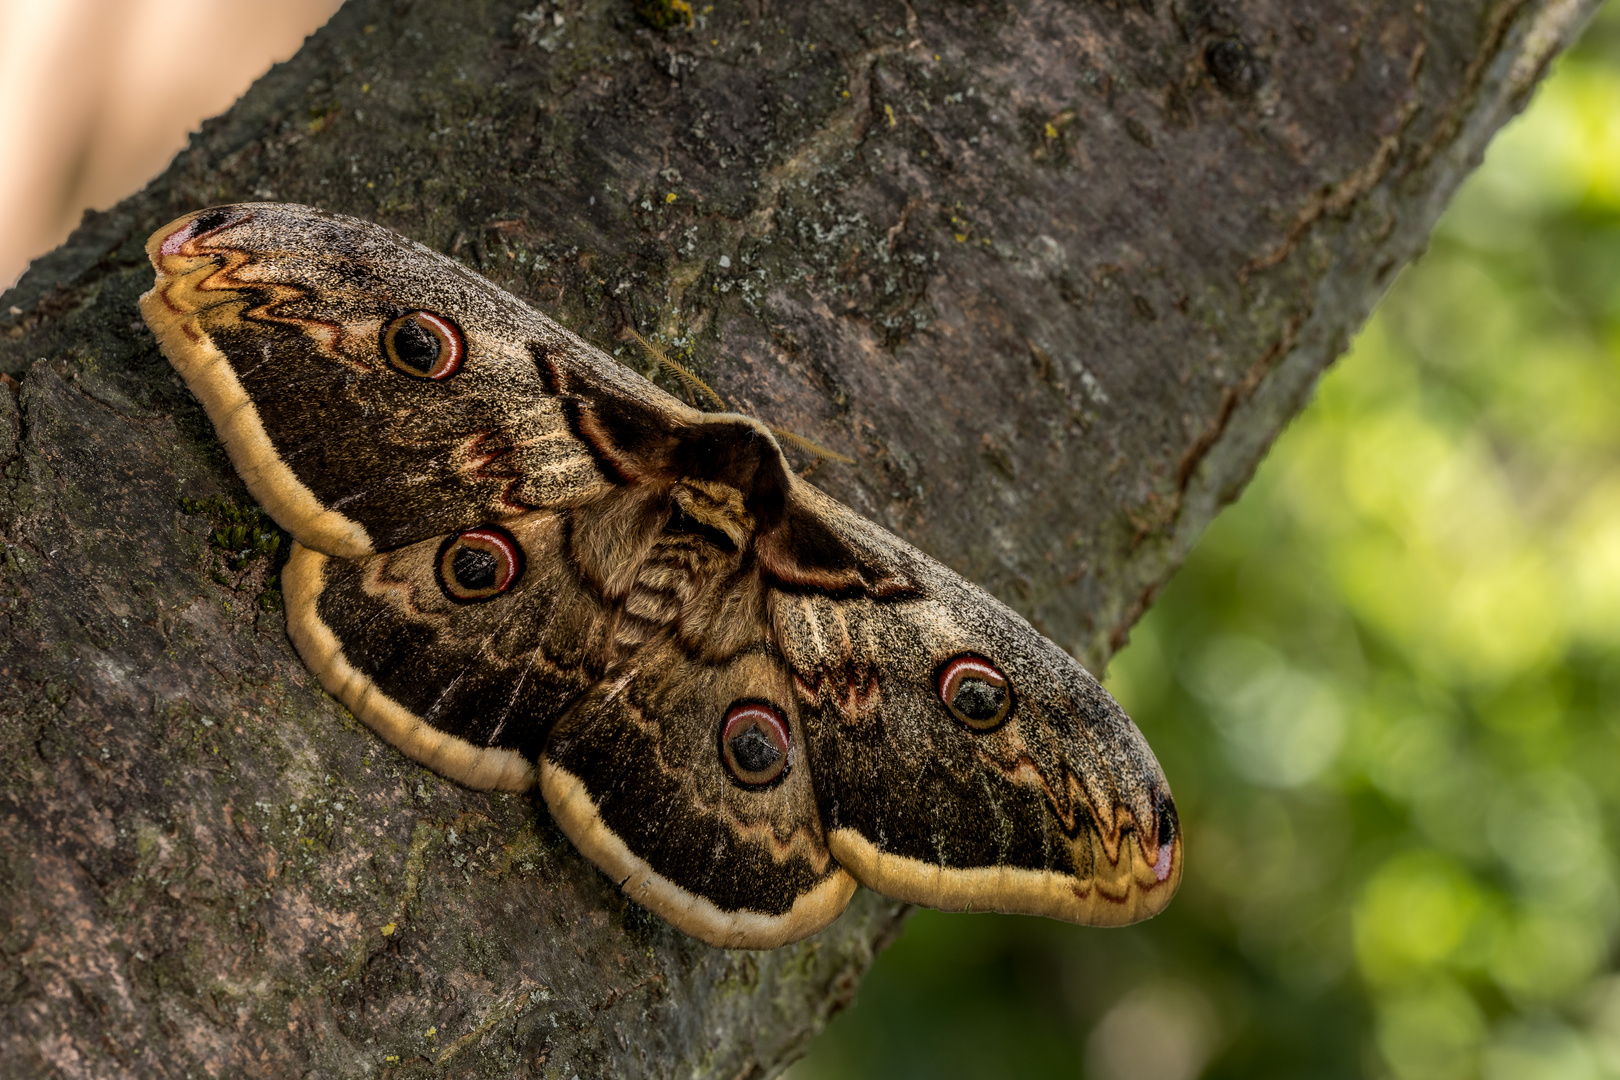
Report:
M 326 698 L 157 225 L 311 202 L 654 332 L 1097 669 L 1596 0 L 642 6 L 350 0 L 0 300 L 0 1074 L 768 1075 L 904 918 L 703 947 Z

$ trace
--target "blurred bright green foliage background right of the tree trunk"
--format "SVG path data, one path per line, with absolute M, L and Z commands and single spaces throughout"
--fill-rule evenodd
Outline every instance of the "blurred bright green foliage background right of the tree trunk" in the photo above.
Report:
M 1110 687 L 1170 910 L 922 912 L 795 1080 L 1620 1077 L 1620 6 Z

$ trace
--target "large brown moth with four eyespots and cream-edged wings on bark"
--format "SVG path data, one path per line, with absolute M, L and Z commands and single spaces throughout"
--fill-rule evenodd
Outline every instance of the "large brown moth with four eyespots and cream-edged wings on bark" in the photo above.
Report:
M 1181 879 L 1140 732 L 1013 610 L 455 261 L 303 206 L 147 243 L 147 325 L 292 534 L 339 701 L 562 832 L 679 929 L 766 949 L 860 882 L 1123 925 Z

